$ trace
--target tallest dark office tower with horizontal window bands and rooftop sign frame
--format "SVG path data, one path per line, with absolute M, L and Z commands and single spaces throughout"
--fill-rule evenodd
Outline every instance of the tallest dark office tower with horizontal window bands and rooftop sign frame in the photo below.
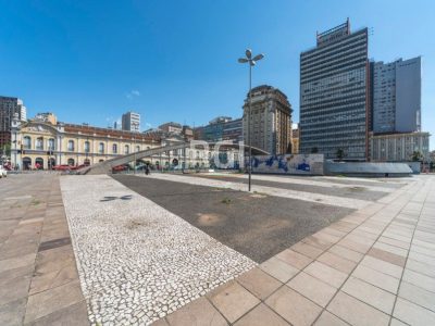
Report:
M 316 35 L 316 47 L 300 54 L 300 152 L 334 159 L 368 158 L 368 28 L 350 23 Z

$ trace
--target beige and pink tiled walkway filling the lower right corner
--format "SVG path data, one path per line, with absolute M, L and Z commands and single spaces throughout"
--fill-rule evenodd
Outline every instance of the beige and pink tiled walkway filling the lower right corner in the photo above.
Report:
M 435 325 L 435 177 L 418 180 L 153 325 Z

